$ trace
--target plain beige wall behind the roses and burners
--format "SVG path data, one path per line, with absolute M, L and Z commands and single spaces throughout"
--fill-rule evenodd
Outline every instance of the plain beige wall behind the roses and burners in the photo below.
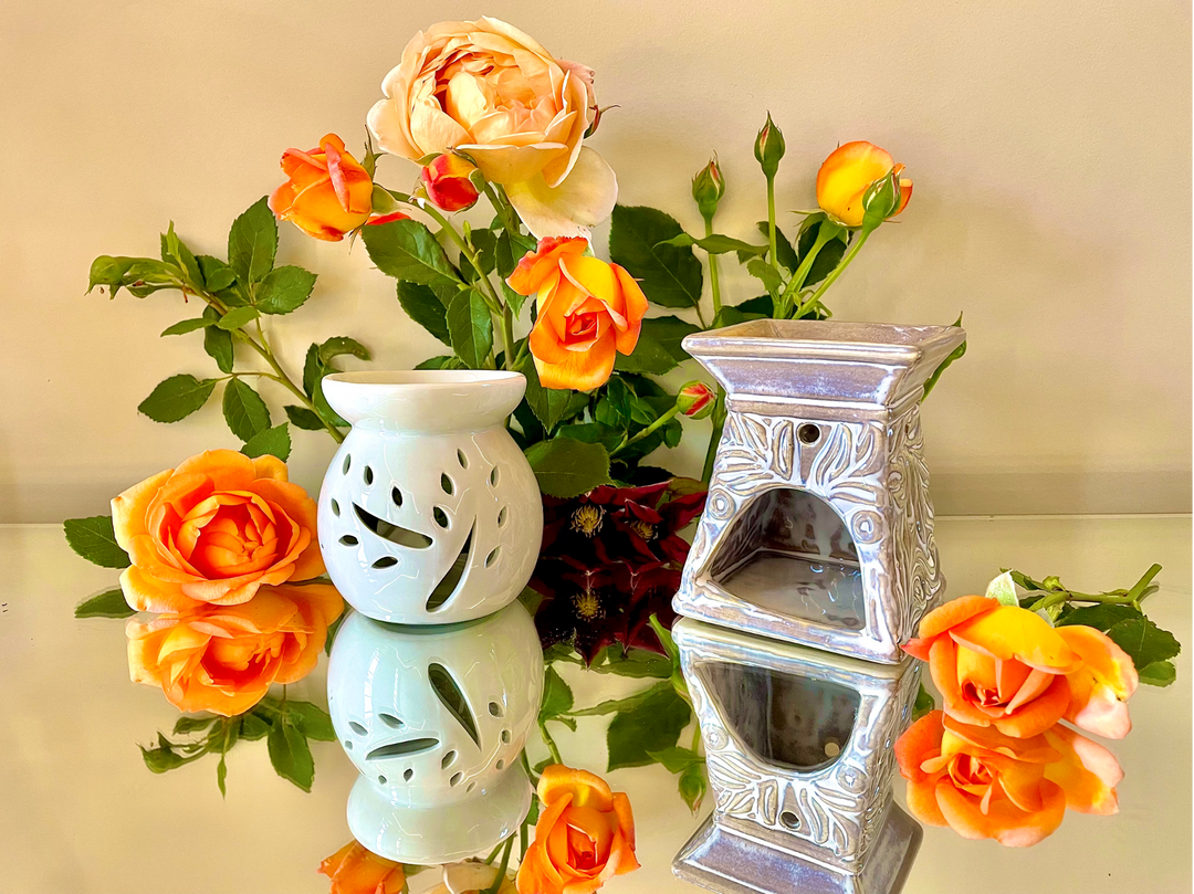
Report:
M 750 147 L 768 110 L 788 141 L 783 209 L 813 204 L 838 142 L 868 138 L 907 166 L 901 223 L 830 296 L 847 320 L 965 310 L 970 353 L 925 406 L 940 512 L 1194 510 L 1187 2 L 10 0 L 0 522 L 101 512 L 185 456 L 238 445 L 217 401 L 171 426 L 137 414 L 160 380 L 215 366 L 199 335 L 158 338 L 197 314 L 177 294 L 85 296 L 91 259 L 155 254 L 171 220 L 223 255 L 232 218 L 279 181 L 283 149 L 327 131 L 356 147 L 408 37 L 480 14 L 597 70 L 601 103 L 618 107 L 592 144 L 621 201 L 694 232 L 689 178 L 716 150 L 719 228 L 752 234 L 764 205 Z M 380 175 L 402 187 L 414 168 L 388 159 Z M 284 226 L 281 257 L 320 273 L 306 307 L 271 321 L 291 369 L 333 334 L 365 341 L 380 368 L 441 352 L 361 247 Z M 294 437 L 293 476 L 316 488 L 331 440 Z M 667 464 L 691 473 L 697 440 Z

